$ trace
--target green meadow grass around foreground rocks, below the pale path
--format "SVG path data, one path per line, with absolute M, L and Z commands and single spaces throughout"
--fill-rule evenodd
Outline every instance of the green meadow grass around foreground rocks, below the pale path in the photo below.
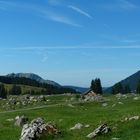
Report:
M 49 97 L 56 100 L 57 103 L 63 101 L 65 96 Z M 42 117 L 45 121 L 53 121 L 62 131 L 58 136 L 50 136 L 50 140 L 88 140 L 86 135 L 92 132 L 98 125 L 107 123 L 112 128 L 112 132 L 99 136 L 95 140 L 111 140 L 118 137 L 121 140 L 139 140 L 140 139 L 140 120 L 121 122 L 125 117 L 140 115 L 140 101 L 134 101 L 131 97 L 119 100 L 123 105 L 118 104 L 114 96 L 106 97 L 110 99 L 108 106 L 102 107 L 102 103 L 90 102 L 74 104 L 75 107 L 59 105 L 32 111 L 19 111 L 14 113 L 0 114 L 0 140 L 18 140 L 21 128 L 14 126 L 14 122 L 6 121 L 9 118 L 15 118 L 17 115 L 26 115 L 30 120 Z M 69 99 L 69 97 L 68 97 Z M 115 107 L 112 107 L 113 104 Z M 76 123 L 89 124 L 89 128 L 70 131 Z M 46 140 L 46 138 L 42 138 Z

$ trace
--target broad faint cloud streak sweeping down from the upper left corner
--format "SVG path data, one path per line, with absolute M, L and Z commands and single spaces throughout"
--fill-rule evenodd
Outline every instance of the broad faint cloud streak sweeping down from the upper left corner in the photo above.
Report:
M 50 0 L 52 3 L 58 3 L 58 0 Z M 60 2 L 60 0 L 59 0 Z M 82 27 L 80 24 L 77 24 L 73 19 L 69 18 L 68 16 L 64 14 L 58 14 L 54 10 L 51 10 L 51 8 L 44 7 L 44 6 L 37 6 L 35 4 L 27 4 L 27 3 L 16 3 L 16 2 L 4 2 L 0 1 L 0 9 L 6 10 L 9 8 L 20 8 L 26 9 L 29 12 L 36 13 L 37 15 L 40 14 L 42 18 L 47 18 L 48 20 L 58 22 L 58 23 L 63 23 L 66 25 L 74 26 L 74 27 Z M 39 13 L 39 14 L 38 14 Z

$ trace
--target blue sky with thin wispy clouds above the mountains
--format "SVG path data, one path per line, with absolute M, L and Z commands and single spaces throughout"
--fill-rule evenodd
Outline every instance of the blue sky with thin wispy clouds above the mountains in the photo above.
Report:
M 103 86 L 140 69 L 139 0 L 0 0 L 0 74 Z

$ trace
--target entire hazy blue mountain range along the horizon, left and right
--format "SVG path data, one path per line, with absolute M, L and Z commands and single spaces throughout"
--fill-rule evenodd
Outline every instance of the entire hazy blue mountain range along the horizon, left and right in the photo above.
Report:
M 55 87 L 71 88 L 71 89 L 74 89 L 75 91 L 81 92 L 81 93 L 83 93 L 83 92 L 85 92 L 86 90 L 89 89 L 89 88 L 76 87 L 76 86 L 61 86 L 57 82 L 54 82 L 54 81 L 51 81 L 51 80 L 45 80 L 42 77 L 40 77 L 40 76 L 38 76 L 37 74 L 34 74 L 34 73 L 11 73 L 11 74 L 8 74 L 6 76 L 7 77 L 29 78 L 29 79 L 32 79 L 32 80 L 36 80 L 37 82 L 40 82 L 40 83 L 46 83 L 46 84 L 49 84 L 49 85 L 53 85 Z M 140 71 L 130 75 L 129 77 L 127 77 L 124 80 L 121 80 L 119 82 L 122 84 L 123 87 L 125 87 L 126 85 L 129 85 L 131 91 L 135 92 L 139 81 L 140 81 Z M 117 83 L 119 83 L 119 82 L 117 82 Z M 112 91 L 113 86 L 111 86 L 109 88 L 103 88 L 104 93 L 110 93 Z

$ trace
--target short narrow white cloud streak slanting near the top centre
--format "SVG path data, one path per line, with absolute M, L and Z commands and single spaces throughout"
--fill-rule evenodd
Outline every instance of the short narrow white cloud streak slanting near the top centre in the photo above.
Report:
M 92 16 L 91 16 L 89 13 L 83 11 L 82 9 L 80 9 L 80 8 L 78 8 L 78 7 L 76 7 L 76 6 L 73 6 L 73 5 L 69 5 L 68 7 L 69 7 L 70 9 L 72 9 L 72 10 L 74 10 L 74 11 L 76 11 L 76 12 L 78 12 L 78 13 L 80 13 L 80 14 L 82 14 L 82 15 L 84 15 L 84 16 L 90 18 L 90 19 L 92 19 Z

